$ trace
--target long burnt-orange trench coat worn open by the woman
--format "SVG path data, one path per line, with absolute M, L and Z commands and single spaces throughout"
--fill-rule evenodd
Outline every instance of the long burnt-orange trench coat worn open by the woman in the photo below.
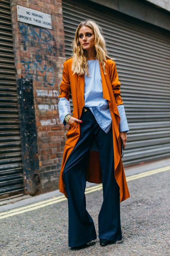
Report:
M 119 112 L 117 106 L 123 104 L 122 98 L 120 95 L 120 82 L 118 80 L 117 69 L 115 62 L 111 59 L 105 61 L 105 73 L 100 64 L 101 72 L 101 81 L 103 88 L 103 98 L 108 100 L 110 114 L 112 117 L 112 131 L 113 131 L 113 150 L 114 150 L 114 175 L 117 181 L 117 184 L 120 188 L 120 202 L 126 200 L 129 197 L 129 191 L 127 187 L 126 177 L 124 174 L 122 159 L 121 159 L 121 142 L 119 137 Z M 80 119 L 82 108 L 84 107 L 84 75 L 74 74 L 71 70 L 72 57 L 68 58 L 63 63 L 63 74 L 62 82 L 60 85 L 60 95 L 58 98 L 72 98 L 73 102 L 73 116 L 77 119 Z M 69 127 L 68 132 L 66 133 L 66 143 L 63 152 L 63 159 L 61 164 L 60 178 L 59 178 L 59 189 L 60 192 L 66 194 L 65 185 L 63 182 L 63 169 L 66 163 L 68 156 L 71 151 L 74 149 L 77 141 L 80 137 L 80 123 L 73 123 Z M 88 165 L 86 170 L 86 180 L 94 183 L 101 183 L 101 170 L 99 163 L 99 152 L 90 151 Z M 76 184 L 75 184 L 76 186 Z

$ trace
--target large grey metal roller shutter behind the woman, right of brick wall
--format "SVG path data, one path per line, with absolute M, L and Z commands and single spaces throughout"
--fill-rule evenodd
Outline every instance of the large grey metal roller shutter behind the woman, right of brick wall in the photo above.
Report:
M 170 156 L 170 35 L 93 3 L 62 1 L 66 57 L 77 25 L 94 19 L 115 58 L 130 131 L 124 165 Z M 97 9 L 97 10 L 96 10 Z M 101 9 L 101 10 L 100 10 Z

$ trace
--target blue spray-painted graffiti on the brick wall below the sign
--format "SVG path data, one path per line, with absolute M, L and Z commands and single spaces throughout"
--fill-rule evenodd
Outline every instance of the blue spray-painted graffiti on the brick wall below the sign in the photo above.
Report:
M 28 47 L 38 48 L 34 61 L 21 61 L 25 70 L 25 78 L 31 79 L 34 76 L 37 81 L 42 81 L 43 78 L 45 85 L 53 86 L 55 72 L 51 66 L 52 62 L 48 61 L 48 56 L 56 54 L 56 47 L 53 45 L 55 40 L 53 40 L 51 32 L 46 28 L 37 28 L 25 23 L 19 23 L 19 31 L 23 37 L 24 50 L 27 50 Z

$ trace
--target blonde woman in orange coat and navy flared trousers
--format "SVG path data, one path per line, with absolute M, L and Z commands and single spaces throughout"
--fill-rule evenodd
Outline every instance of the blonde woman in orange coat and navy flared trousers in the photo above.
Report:
M 60 119 L 70 126 L 59 188 L 68 198 L 69 247 L 81 247 L 96 239 L 94 222 L 86 210 L 86 181 L 102 182 L 98 224 L 100 245 L 105 246 L 122 239 L 120 202 L 129 197 L 129 192 L 121 141 L 125 147 L 129 128 L 117 69 L 107 55 L 101 28 L 91 19 L 82 21 L 72 48 L 72 57 L 63 63 L 58 96 Z

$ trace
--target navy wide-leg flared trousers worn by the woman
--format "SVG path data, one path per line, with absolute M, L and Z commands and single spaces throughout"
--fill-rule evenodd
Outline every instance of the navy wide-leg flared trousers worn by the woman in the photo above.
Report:
M 114 177 L 112 128 L 105 133 L 90 109 L 83 109 L 80 138 L 69 155 L 63 179 L 69 207 L 69 247 L 80 246 L 96 239 L 94 222 L 86 210 L 86 166 L 90 147 L 95 141 L 100 157 L 103 203 L 99 212 L 99 238 L 121 240 L 119 186 Z M 95 204 L 95 202 L 94 202 Z

